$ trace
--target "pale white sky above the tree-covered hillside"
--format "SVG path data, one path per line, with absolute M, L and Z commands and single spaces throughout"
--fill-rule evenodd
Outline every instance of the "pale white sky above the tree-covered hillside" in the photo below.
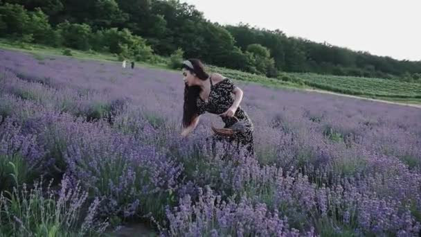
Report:
M 421 60 L 420 0 L 180 0 L 222 25 L 282 30 L 354 51 Z

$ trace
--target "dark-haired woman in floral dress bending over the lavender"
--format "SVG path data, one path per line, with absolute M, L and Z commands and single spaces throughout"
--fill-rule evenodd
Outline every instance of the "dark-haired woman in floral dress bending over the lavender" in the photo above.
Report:
M 196 128 L 201 114 L 205 112 L 217 114 L 222 117 L 222 121 L 225 123 L 224 128 L 229 128 L 234 123 L 242 121 L 246 125 L 246 129 L 229 138 L 215 135 L 214 141 L 229 141 L 235 143 L 238 149 L 240 146 L 244 146 L 249 152 L 247 155 L 254 155 L 253 123 L 240 107 L 243 97 L 242 89 L 236 87 L 230 78 L 219 73 L 208 75 L 200 60 L 186 60 L 181 68 L 186 84 L 181 136 L 186 137 Z M 234 94 L 235 98 L 231 94 Z

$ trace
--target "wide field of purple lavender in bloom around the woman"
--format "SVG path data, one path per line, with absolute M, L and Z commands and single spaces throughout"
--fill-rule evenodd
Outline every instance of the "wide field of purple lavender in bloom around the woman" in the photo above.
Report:
M 233 80 L 256 159 L 181 139 L 181 73 L 0 50 L 0 236 L 420 234 L 421 109 Z

